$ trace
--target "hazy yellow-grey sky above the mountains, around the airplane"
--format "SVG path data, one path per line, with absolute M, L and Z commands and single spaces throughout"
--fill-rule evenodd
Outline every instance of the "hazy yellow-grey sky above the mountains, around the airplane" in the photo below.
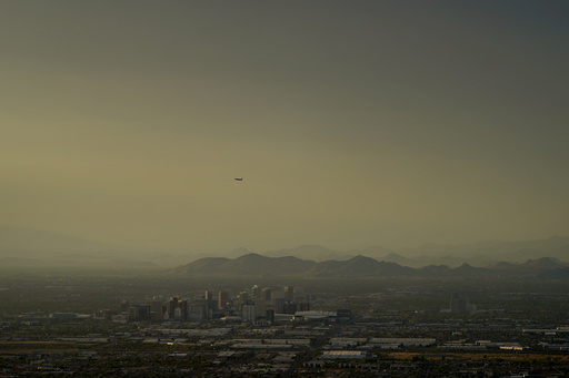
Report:
M 568 235 L 568 19 L 1 1 L 0 224 L 220 252 Z

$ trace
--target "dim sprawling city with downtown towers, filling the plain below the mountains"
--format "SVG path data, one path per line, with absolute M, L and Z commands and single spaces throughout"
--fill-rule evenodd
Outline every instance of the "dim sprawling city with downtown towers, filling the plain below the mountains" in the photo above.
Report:
M 0 377 L 569 372 L 569 297 L 553 282 L 317 280 L 241 289 L 243 283 L 236 282 L 189 289 L 186 296 L 166 295 L 177 282 L 156 293 L 144 293 L 159 287 L 156 282 L 121 286 L 84 277 L 70 285 L 23 277 L 11 283 L 0 290 L 10 306 L 1 314 Z M 37 297 L 26 298 L 31 286 Z M 128 293 L 132 297 L 124 297 Z M 93 308 L 108 297 L 112 306 Z M 26 308 L 32 305 L 39 308 Z M 14 314 L 19 306 L 27 310 Z M 92 311 L 69 310 L 81 307 Z

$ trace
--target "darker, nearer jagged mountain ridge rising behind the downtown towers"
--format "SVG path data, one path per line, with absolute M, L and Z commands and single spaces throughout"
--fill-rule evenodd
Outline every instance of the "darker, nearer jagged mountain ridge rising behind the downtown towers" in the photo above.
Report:
M 569 277 L 569 265 L 556 258 L 528 259 L 523 264 L 498 263 L 486 267 L 462 264 L 450 268 L 430 265 L 411 268 L 397 263 L 378 262 L 371 257 L 356 256 L 348 260 L 316 263 L 298 257 L 268 257 L 247 254 L 237 258 L 206 257 L 180 266 L 173 272 L 188 275 L 302 277 L 302 278 L 382 278 L 382 277 Z

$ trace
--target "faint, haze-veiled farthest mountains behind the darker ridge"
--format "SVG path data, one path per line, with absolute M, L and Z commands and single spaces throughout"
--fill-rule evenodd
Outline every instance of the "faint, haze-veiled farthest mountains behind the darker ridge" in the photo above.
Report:
M 222 256 L 227 264 L 231 258 L 240 258 L 253 253 L 246 247 L 236 248 L 229 253 L 219 253 L 213 256 Z M 411 268 L 430 267 L 432 270 L 443 270 L 442 267 L 457 268 L 468 263 L 473 267 L 488 267 L 498 265 L 505 270 L 507 263 L 518 267 L 521 263 L 531 259 L 539 260 L 548 256 L 558 260 L 566 260 L 569 256 L 569 237 L 551 236 L 545 239 L 522 242 L 480 242 L 473 244 L 426 244 L 416 248 L 391 249 L 373 246 L 363 249 L 336 251 L 316 244 L 305 244 L 293 248 L 257 252 L 258 255 L 272 258 L 282 258 L 282 268 L 295 266 L 300 272 L 291 257 L 298 260 L 311 262 L 318 274 L 339 268 L 340 262 L 361 260 L 363 256 L 376 262 L 396 263 L 396 265 Z M 357 260 L 352 260 L 359 256 Z M 83 267 L 111 267 L 111 268 L 171 268 L 203 257 L 212 257 L 212 254 L 187 249 L 157 249 L 139 251 L 127 249 L 97 241 L 89 241 L 71 235 L 51 233 L 47 231 L 19 228 L 13 226 L 0 226 L 0 267 L 47 267 L 47 266 L 83 266 Z M 221 257 L 220 257 L 221 258 Z M 319 265 L 319 263 L 326 263 Z M 368 260 L 371 268 L 373 262 Z M 306 264 L 306 263 L 302 263 Z M 220 267 L 221 270 L 224 267 Z M 355 269 L 355 266 L 342 269 Z M 395 267 L 393 267 L 395 268 Z M 232 269 L 232 268 L 231 268 Z M 248 267 L 242 267 L 247 270 Z M 220 270 L 220 272 L 221 272 Z M 277 274 L 281 272 L 278 270 Z M 302 270 L 305 272 L 305 270 Z

